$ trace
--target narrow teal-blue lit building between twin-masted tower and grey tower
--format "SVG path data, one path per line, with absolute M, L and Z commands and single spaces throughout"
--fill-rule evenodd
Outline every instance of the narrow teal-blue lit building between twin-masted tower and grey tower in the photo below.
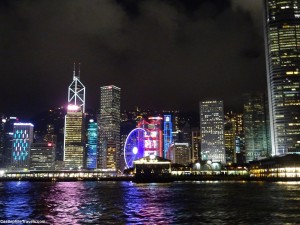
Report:
M 98 125 L 90 120 L 87 133 L 87 169 L 97 168 Z

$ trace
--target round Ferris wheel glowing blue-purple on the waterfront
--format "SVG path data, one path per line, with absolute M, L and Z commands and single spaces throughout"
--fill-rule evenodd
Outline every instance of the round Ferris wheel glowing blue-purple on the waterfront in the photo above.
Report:
M 135 160 L 144 157 L 145 134 L 146 130 L 143 128 L 135 128 L 128 134 L 124 145 L 124 159 L 127 168 L 132 168 Z

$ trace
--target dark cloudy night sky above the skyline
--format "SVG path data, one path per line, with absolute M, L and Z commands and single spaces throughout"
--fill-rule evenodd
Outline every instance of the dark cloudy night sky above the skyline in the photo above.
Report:
M 241 110 L 266 90 L 262 13 L 260 0 L 1 0 L 0 113 L 66 105 L 74 62 L 90 109 L 113 84 L 122 109 Z

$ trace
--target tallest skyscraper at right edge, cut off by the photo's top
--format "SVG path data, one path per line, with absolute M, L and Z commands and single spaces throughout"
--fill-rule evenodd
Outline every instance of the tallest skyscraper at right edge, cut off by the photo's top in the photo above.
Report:
M 300 1 L 265 0 L 272 154 L 300 153 Z

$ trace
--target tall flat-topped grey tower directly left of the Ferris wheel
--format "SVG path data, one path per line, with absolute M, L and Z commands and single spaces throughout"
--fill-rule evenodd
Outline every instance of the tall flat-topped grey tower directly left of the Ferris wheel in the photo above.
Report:
M 120 169 L 120 109 L 121 89 L 114 86 L 100 87 L 99 169 Z M 113 163 L 112 160 L 115 160 Z M 115 165 L 115 166 L 113 166 Z

